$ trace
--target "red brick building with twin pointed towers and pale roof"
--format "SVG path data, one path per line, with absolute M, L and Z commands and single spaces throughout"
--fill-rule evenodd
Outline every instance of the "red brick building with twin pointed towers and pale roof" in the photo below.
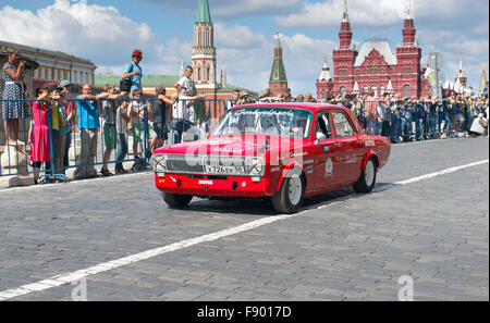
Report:
M 383 92 L 395 92 L 403 97 L 424 96 L 430 92 L 429 82 L 420 69 L 421 48 L 415 35 L 414 20 L 408 11 L 403 26 L 403 42 L 393 53 L 383 39 L 373 39 L 363 45 L 360 52 L 352 45 L 353 32 L 345 1 L 339 32 L 340 44 L 333 50 L 333 77 L 327 62 L 317 79 L 317 98 L 324 100 L 341 92 L 362 94 L 373 90 L 377 97 Z M 331 77 L 326 79 L 324 77 Z

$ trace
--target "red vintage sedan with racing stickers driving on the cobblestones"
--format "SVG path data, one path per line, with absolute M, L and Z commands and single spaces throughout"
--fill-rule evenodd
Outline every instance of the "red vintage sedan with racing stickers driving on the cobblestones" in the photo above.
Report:
M 226 111 L 207 139 L 158 149 L 151 167 L 170 207 L 194 196 L 269 197 L 278 212 L 294 213 L 307 197 L 371 191 L 390 150 L 388 138 L 364 135 L 350 109 L 253 104 Z

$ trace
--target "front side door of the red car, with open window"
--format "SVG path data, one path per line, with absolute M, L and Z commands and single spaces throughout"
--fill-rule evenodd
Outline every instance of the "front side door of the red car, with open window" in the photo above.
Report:
M 332 132 L 330 112 L 322 111 L 317 114 L 314 138 L 313 167 L 307 166 L 307 172 L 313 172 L 314 187 L 316 191 L 335 189 L 341 182 L 340 174 L 340 152 L 335 147 L 335 138 Z M 322 136 L 319 136 L 322 135 Z M 308 161 L 306 161 L 308 162 Z

